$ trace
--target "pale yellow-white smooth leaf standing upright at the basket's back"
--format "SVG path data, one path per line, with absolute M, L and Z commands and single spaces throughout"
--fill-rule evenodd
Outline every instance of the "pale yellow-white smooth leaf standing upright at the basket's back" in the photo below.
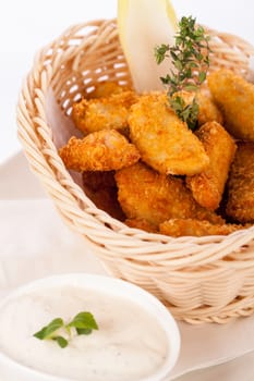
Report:
M 154 50 L 174 45 L 177 16 L 170 0 L 118 0 L 118 28 L 135 89 L 161 90 L 170 61 L 158 65 Z

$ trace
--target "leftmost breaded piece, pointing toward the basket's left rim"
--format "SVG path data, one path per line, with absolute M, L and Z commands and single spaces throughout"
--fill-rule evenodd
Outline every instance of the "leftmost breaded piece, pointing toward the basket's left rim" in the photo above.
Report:
M 114 130 L 101 130 L 83 139 L 73 136 L 59 155 L 68 169 L 78 172 L 119 170 L 140 160 L 135 146 Z

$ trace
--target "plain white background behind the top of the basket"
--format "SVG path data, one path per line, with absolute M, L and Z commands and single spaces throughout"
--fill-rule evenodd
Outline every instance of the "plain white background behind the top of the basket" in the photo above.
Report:
M 8 0 L 1 7 L 0 163 L 21 149 L 15 106 L 22 78 L 36 51 L 72 24 L 116 17 L 117 3 L 117 0 Z M 172 3 L 179 17 L 192 14 L 199 23 L 238 34 L 254 44 L 253 0 L 172 0 Z

